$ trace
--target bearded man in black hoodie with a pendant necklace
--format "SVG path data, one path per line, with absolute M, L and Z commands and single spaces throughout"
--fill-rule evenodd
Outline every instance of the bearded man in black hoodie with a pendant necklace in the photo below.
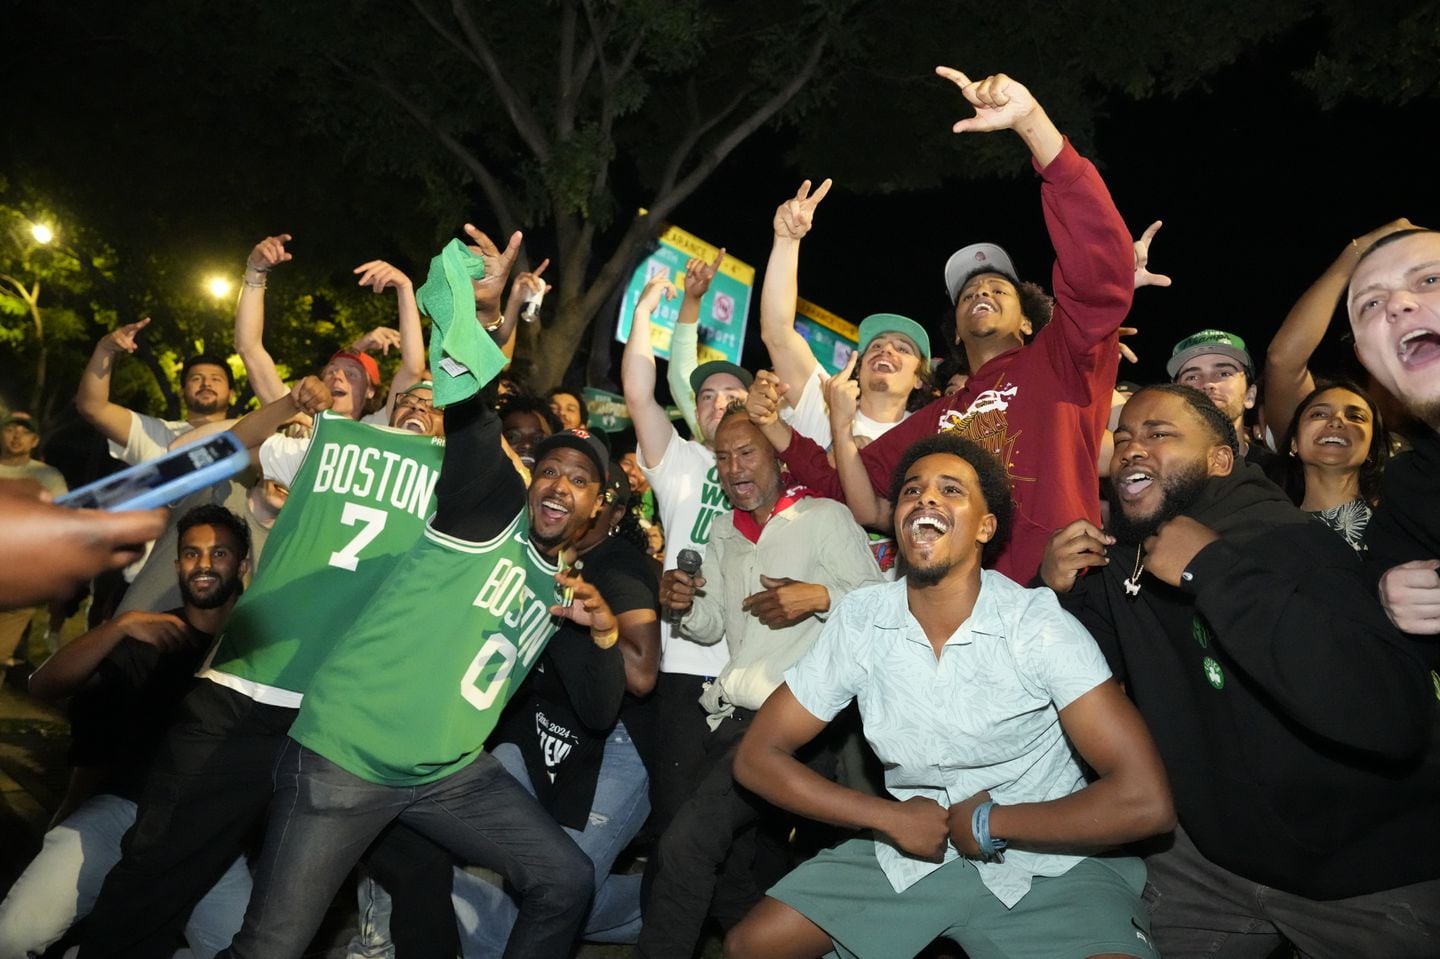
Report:
M 1130 397 L 1110 482 L 1110 533 L 1057 531 L 1041 575 L 1175 791 L 1179 827 L 1146 854 L 1156 946 L 1433 956 L 1436 704 L 1355 551 L 1240 464 L 1234 425 L 1187 386 Z

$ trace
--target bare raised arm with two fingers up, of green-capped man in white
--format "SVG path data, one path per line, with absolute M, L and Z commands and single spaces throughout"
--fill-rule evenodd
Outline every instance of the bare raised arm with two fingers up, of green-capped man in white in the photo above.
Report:
M 770 226 L 770 261 L 760 285 L 760 338 L 770 353 L 770 364 L 782 383 L 799 389 L 816 366 L 805 337 L 795 333 L 795 301 L 799 297 L 801 239 L 815 222 L 815 207 L 829 193 L 829 180 L 812 194 L 806 180 L 795 196 L 780 203 Z

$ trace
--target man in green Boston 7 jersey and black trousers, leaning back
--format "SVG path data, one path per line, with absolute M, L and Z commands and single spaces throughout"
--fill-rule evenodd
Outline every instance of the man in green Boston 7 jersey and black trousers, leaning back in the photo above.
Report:
M 251 589 L 181 701 L 135 827 L 86 923 L 86 956 L 168 956 L 197 900 L 259 831 L 271 773 L 320 661 L 433 511 L 444 454 L 432 389 L 400 397 L 390 428 L 325 413 L 307 377 L 236 423 L 289 487 Z M 275 435 L 297 412 L 311 439 Z M 403 917 L 403 903 L 397 917 Z M 403 935 L 397 922 L 395 935 Z

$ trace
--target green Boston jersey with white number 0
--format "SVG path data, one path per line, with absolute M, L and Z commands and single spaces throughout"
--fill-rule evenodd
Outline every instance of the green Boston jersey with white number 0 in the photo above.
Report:
M 291 739 L 382 785 L 461 770 L 559 625 L 554 573 L 523 505 L 488 543 L 428 526 L 337 638 Z

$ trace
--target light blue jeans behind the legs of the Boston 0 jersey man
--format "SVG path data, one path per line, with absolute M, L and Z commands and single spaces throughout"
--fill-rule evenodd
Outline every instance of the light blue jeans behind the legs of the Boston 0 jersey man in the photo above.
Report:
M 520 749 L 501 743 L 491 755 L 527 792 L 534 793 Z M 611 875 L 615 860 L 631 844 L 649 815 L 649 779 L 624 723 L 605 740 L 600 775 L 595 783 L 590 816 L 583 829 L 566 834 L 595 864 L 595 903 L 585 920 L 583 939 L 632 943 L 639 937 L 639 884 L 636 875 Z M 455 870 L 455 917 L 465 959 L 503 955 L 516 922 L 516 901 L 498 886 Z

